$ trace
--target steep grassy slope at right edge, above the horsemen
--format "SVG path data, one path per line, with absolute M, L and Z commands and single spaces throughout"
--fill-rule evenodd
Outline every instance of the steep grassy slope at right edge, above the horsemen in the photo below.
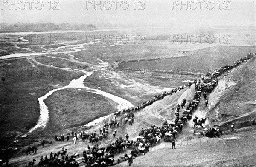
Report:
M 236 127 L 244 127 L 247 124 L 243 122 L 256 119 L 256 58 L 225 76 L 212 96 L 217 94 L 221 96 L 214 108 L 208 112 L 212 124 L 227 122 L 223 128 L 230 129 L 230 119 L 235 119 Z

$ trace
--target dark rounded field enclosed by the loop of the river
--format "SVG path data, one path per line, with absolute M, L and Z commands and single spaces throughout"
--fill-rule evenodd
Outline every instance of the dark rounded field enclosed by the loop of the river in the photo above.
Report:
M 111 99 L 77 88 L 57 91 L 45 102 L 49 107 L 50 119 L 44 132 L 49 136 L 42 137 L 54 137 L 55 133 L 66 134 L 69 128 L 86 125 L 116 110 L 116 103 Z

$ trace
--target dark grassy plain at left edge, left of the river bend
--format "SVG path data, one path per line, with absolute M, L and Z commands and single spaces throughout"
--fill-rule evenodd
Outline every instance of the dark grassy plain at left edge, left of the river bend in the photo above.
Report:
M 1 147 L 7 146 L 17 131 L 27 132 L 39 117 L 38 97 L 70 80 L 82 76 L 80 72 L 37 66 L 34 68 L 26 59 L 9 60 L 0 67 L 0 136 Z M 4 81 L 3 81 L 4 80 Z M 33 93 L 30 95 L 29 93 Z M 16 131 L 15 133 L 9 133 Z

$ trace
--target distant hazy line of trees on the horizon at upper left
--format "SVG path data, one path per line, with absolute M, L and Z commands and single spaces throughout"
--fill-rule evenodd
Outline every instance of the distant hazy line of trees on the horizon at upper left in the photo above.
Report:
M 15 23 L 0 24 L 0 32 L 34 32 L 34 31 L 72 31 L 72 30 L 95 30 L 92 24 L 54 24 L 54 23 Z

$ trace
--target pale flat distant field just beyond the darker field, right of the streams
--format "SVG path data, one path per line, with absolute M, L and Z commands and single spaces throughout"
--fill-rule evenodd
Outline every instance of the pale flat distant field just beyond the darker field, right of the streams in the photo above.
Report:
M 171 42 L 171 40 L 143 40 L 143 43 L 134 40 L 124 45 L 122 49 L 110 52 L 102 60 L 113 63 L 115 61 L 165 59 L 170 57 L 181 57 L 195 54 L 198 49 L 211 47 L 211 44 L 191 44 Z

